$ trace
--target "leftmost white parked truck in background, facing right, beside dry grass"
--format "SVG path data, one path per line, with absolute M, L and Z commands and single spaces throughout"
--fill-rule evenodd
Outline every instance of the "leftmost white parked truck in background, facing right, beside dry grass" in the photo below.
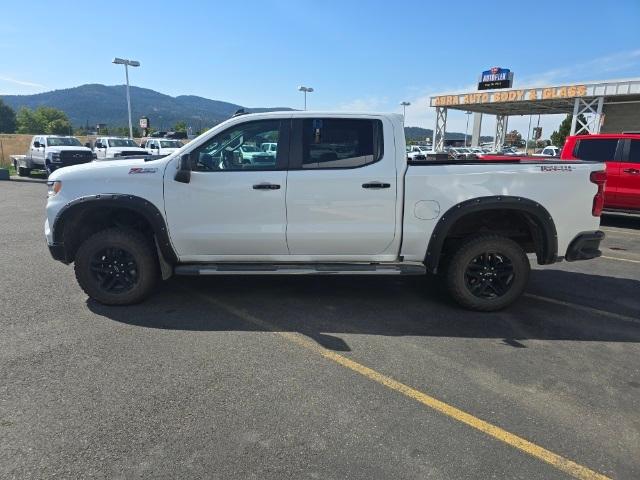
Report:
M 14 157 L 14 167 L 21 177 L 31 170 L 46 170 L 48 174 L 68 165 L 87 163 L 93 160 L 93 152 L 75 137 L 61 135 L 35 135 L 31 139 L 26 155 Z

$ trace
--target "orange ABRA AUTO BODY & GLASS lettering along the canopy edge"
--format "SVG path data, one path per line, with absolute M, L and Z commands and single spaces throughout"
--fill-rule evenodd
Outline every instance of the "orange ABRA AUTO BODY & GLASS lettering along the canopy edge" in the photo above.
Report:
M 504 90 L 501 92 L 460 93 L 457 95 L 431 97 L 431 106 L 448 107 L 450 105 L 473 105 L 478 103 L 531 102 L 538 100 L 555 100 L 558 98 L 584 97 L 586 94 L 587 87 L 585 85 L 527 88 L 523 90 Z

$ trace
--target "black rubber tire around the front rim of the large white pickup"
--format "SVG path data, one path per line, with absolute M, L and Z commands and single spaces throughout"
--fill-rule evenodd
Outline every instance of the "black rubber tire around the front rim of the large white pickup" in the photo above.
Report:
M 125 252 L 135 264 L 135 282 L 126 291 L 113 291 L 101 284 L 95 273 L 96 259 L 106 249 Z M 158 259 L 153 244 L 139 232 L 110 228 L 85 240 L 75 256 L 76 279 L 84 292 L 105 305 L 130 305 L 147 298 L 159 277 Z M 100 267 L 101 274 L 104 267 Z M 108 273 L 108 275 L 112 275 Z M 130 277 L 128 277 L 130 278 Z

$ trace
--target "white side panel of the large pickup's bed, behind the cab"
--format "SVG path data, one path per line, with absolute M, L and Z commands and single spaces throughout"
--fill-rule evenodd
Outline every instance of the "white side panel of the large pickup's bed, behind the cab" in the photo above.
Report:
M 602 163 L 540 157 L 409 162 L 402 255 L 411 261 L 426 254 L 425 237 L 450 209 L 470 199 L 493 197 L 526 199 L 542 206 L 558 226 L 558 254 L 563 256 L 577 232 L 599 227 L 599 217 L 591 213 L 598 188 L 590 175 L 604 168 Z

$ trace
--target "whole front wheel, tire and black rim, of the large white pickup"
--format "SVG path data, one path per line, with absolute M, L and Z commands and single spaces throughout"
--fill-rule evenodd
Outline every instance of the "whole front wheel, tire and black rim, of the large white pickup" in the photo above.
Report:
M 85 293 L 106 305 L 144 300 L 159 275 L 150 242 L 138 232 L 116 228 L 85 240 L 76 253 L 74 268 Z

